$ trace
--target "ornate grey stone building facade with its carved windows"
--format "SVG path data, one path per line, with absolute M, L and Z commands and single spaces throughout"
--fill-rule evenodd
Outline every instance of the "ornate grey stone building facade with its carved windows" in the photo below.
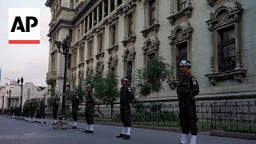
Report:
M 67 82 L 82 83 L 94 70 L 114 70 L 134 84 L 135 70 L 159 54 L 173 78 L 159 94 L 175 100 L 178 63 L 192 62 L 198 98 L 256 96 L 256 1 L 251 0 L 47 0 L 50 22 L 46 80 L 62 93 L 64 58 L 55 41 L 70 36 Z M 147 100 L 155 100 L 151 94 Z

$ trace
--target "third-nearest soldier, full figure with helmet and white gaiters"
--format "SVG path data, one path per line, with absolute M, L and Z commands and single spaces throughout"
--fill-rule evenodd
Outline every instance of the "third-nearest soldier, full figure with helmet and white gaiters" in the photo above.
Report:
M 94 133 L 94 107 L 95 107 L 95 97 L 93 94 L 93 86 L 88 84 L 86 86 L 86 130 L 82 133 L 90 134 Z

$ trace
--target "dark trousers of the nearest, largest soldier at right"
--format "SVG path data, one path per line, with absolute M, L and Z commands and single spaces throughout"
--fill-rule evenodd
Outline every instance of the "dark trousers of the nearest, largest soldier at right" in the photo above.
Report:
M 195 113 L 196 110 L 191 107 L 180 109 L 178 117 L 182 127 L 182 134 L 189 134 L 190 132 L 192 135 L 198 134 L 197 116 Z

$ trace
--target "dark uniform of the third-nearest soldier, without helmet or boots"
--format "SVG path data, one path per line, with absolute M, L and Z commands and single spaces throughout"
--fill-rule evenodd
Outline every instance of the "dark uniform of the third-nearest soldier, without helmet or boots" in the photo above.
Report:
M 89 125 L 94 124 L 94 107 L 95 107 L 94 100 L 95 100 L 94 94 L 92 92 L 87 93 L 87 95 L 86 95 L 86 122 Z

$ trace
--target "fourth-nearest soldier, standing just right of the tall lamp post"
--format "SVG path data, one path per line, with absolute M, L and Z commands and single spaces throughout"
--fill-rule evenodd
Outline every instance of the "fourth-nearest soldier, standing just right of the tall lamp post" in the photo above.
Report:
M 72 98 L 72 116 L 74 119 L 74 124 L 72 129 L 76 129 L 77 128 L 77 122 L 78 122 L 78 106 L 79 106 L 79 98 L 78 98 L 78 90 L 77 89 L 73 89 L 73 98 Z

